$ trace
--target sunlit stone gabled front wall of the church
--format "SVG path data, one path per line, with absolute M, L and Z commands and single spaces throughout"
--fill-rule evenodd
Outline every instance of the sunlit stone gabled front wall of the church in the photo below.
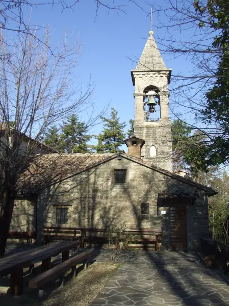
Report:
M 126 184 L 114 183 L 114 169 L 126 169 Z M 122 158 L 106 162 L 45 189 L 38 198 L 37 230 L 56 223 L 58 207 L 68 208 L 62 226 L 104 228 L 126 222 L 128 228 L 163 228 L 163 244 L 169 248 L 169 210 L 160 216 L 158 193 L 193 192 L 199 198 L 187 208 L 187 243 L 193 249 L 199 236 L 208 235 L 208 199 L 203 191 Z M 141 203 L 149 203 L 149 220 L 141 219 Z

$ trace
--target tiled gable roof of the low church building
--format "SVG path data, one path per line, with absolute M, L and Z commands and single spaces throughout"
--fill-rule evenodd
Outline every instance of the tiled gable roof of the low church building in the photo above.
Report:
M 110 161 L 117 156 L 121 156 L 124 159 L 130 160 L 142 166 L 145 166 L 151 170 L 162 173 L 182 183 L 191 185 L 205 191 L 209 195 L 217 194 L 215 190 L 207 186 L 195 183 L 185 177 L 173 174 L 167 170 L 159 168 L 155 165 L 147 163 L 140 158 L 128 154 L 49 154 L 38 156 L 30 167 L 21 174 L 18 183 L 17 190 L 21 194 L 34 193 L 44 187 L 57 183 L 61 180 L 67 179 L 69 176 L 80 173 L 87 169 L 91 169 Z

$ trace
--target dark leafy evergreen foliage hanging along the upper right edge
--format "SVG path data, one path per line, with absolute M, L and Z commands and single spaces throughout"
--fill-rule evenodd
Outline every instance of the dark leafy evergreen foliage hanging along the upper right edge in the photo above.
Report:
M 203 165 L 219 165 L 229 159 L 229 8 L 227 0 L 209 0 L 209 20 L 215 30 L 222 29 L 213 40 L 213 48 L 221 50 L 216 82 L 206 93 L 205 123 L 217 123 L 217 133 L 211 137 Z

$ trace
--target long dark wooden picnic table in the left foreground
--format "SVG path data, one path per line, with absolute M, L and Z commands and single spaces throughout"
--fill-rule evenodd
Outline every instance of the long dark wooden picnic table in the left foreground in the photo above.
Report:
M 80 246 L 80 241 L 57 241 L 34 249 L 18 252 L 0 259 L 0 277 L 11 274 L 10 293 L 20 295 L 23 291 L 23 268 L 42 261 L 42 272 L 50 269 L 51 257 L 62 253 L 62 262 L 69 259 L 69 250 Z

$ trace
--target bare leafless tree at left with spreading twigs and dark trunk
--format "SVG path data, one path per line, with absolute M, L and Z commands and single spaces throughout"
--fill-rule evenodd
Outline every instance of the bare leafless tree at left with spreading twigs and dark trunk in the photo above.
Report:
M 91 81 L 86 88 L 75 82 L 81 42 L 73 39 L 73 33 L 68 37 L 66 32 L 54 49 L 56 56 L 53 57 L 49 29 L 40 37 L 44 44 L 39 43 L 37 36 L 36 31 L 33 35 L 18 33 L 10 43 L 3 31 L 0 36 L 0 186 L 3 197 L 0 256 L 5 250 L 20 175 L 37 154 L 53 152 L 41 143 L 45 131 L 70 114 L 82 113 L 88 113 L 89 129 L 101 115 L 93 114 Z

